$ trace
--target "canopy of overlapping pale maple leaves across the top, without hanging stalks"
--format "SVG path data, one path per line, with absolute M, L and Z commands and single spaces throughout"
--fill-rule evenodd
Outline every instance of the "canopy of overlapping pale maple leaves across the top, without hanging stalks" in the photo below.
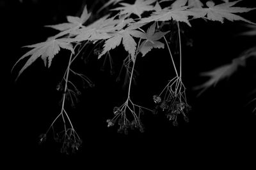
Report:
M 86 23 L 88 18 L 91 16 L 91 13 L 88 13 L 85 6 L 81 17 L 67 16 L 67 23 L 47 25 L 46 27 L 51 27 L 52 29 L 60 31 L 55 36 L 48 38 L 45 42 L 25 46 L 33 49 L 20 57 L 17 61 L 18 63 L 20 60 L 31 55 L 26 64 L 22 69 L 20 69 L 19 74 L 38 59 L 38 57 L 41 57 L 44 60 L 45 65 L 48 59 L 48 66 L 50 67 L 53 57 L 60 51 L 60 48 L 70 50 L 70 52 L 74 53 L 72 43 L 81 41 L 92 41 L 95 43 L 100 39 L 106 40 L 104 43 L 104 50 L 99 55 L 99 58 L 109 50 L 116 48 L 116 46 L 120 45 L 122 41 L 122 45 L 124 45 L 125 50 L 129 52 L 132 59 L 134 59 L 137 44 L 133 37 L 147 39 L 147 36 L 142 34 L 140 31 L 136 31 L 136 29 L 139 29 L 149 22 L 175 20 L 177 22 L 185 22 L 191 26 L 189 23 L 189 17 L 193 17 L 205 18 L 207 20 L 219 21 L 221 23 L 223 23 L 223 19 L 226 18 L 230 21 L 243 20 L 244 22 L 254 24 L 253 22 L 234 14 L 255 10 L 255 8 L 233 7 L 240 1 L 241 0 L 217 5 L 215 5 L 213 1 L 207 1 L 206 7 L 204 8 L 204 4 L 199 0 L 177 0 L 170 6 L 163 9 L 156 0 L 136 0 L 134 4 L 118 3 L 119 1 L 113 1 L 116 4 L 122 5 L 122 7 L 113 9 L 114 11 L 120 11 L 118 15 L 115 15 L 114 17 L 106 15 L 99 18 L 92 24 L 84 26 L 84 23 Z M 164 1 L 161 1 L 160 3 L 163 2 Z M 145 11 L 153 12 L 149 17 L 142 18 L 141 14 Z M 139 20 L 136 22 L 130 18 L 129 16 L 131 14 L 137 15 Z M 148 32 L 148 35 L 150 35 L 150 33 L 151 36 L 154 34 L 154 32 Z M 151 39 L 149 39 L 149 41 L 150 40 Z M 151 43 L 153 43 L 153 41 Z M 145 55 L 145 53 L 143 53 L 143 55 Z

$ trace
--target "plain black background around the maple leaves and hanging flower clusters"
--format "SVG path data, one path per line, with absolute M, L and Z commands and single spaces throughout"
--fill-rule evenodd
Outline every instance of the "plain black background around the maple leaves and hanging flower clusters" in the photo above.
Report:
M 115 162 L 123 161 L 154 162 L 167 159 L 164 163 L 169 164 L 175 160 L 190 160 L 198 155 L 198 159 L 212 162 L 226 161 L 230 156 L 237 159 L 249 153 L 255 154 L 253 137 L 256 117 L 252 113 L 253 104 L 246 106 L 253 99 L 248 94 L 255 89 L 255 60 L 250 60 L 247 67 L 239 68 L 228 81 L 221 81 L 198 98 L 197 92 L 191 90 L 207 80 L 198 76 L 200 72 L 227 64 L 255 45 L 255 38 L 237 36 L 239 32 L 246 31 L 243 22 L 227 21 L 220 24 L 204 20 L 191 21 L 191 28 L 183 25 L 187 36 L 194 43 L 193 47 L 184 46 L 183 49 L 182 72 L 188 89 L 188 102 L 192 106 L 188 124 L 180 118 L 179 126 L 173 127 L 164 115 L 146 112 L 142 118 L 145 125 L 142 134 L 135 131 L 125 136 L 116 132 L 116 126 L 108 128 L 106 119 L 113 117 L 113 107 L 123 104 L 127 95 L 122 83 L 115 81 L 120 69 L 118 60 L 120 57 L 124 59 L 126 53 L 120 54 L 120 51 L 114 50 L 111 52 L 114 64 L 116 61 L 114 75 L 109 74 L 108 65 L 105 71 L 100 71 L 102 59 L 97 61 L 94 57 L 90 58 L 89 64 L 80 64 L 82 60 L 77 64 L 84 67 L 86 75 L 95 83 L 94 88 L 82 90 L 83 95 L 76 109 L 68 110 L 76 131 L 83 139 L 81 150 L 75 155 L 61 154 L 61 146 L 54 143 L 51 133 L 43 145 L 38 145 L 38 136 L 47 130 L 60 111 L 58 102 L 61 96 L 56 91 L 56 85 L 67 67 L 68 55 L 60 52 L 54 57 L 49 69 L 44 67 L 42 60 L 36 60 L 16 83 L 14 80 L 21 64 L 12 74 L 9 71 L 28 50 L 21 46 L 45 41 L 45 38 L 56 32 L 43 26 L 65 22 L 66 15 L 79 15 L 84 2 L 1 1 L 4 37 L 2 57 L 10 59 L 7 70 L 10 75 L 10 106 L 8 113 L 5 113 L 8 115 L 8 124 L 4 126 L 8 129 L 8 136 L 4 139 L 10 159 L 22 160 L 26 166 L 30 166 L 31 161 L 38 164 L 81 161 L 86 166 L 104 164 L 111 167 Z M 255 7 L 252 1 L 240 4 Z M 256 22 L 255 11 L 243 17 Z M 167 50 L 152 50 L 146 57 L 140 57 L 136 69 L 140 74 L 136 79 L 137 84 L 132 85 L 132 101 L 154 108 L 152 96 L 161 92 L 174 73 Z M 3 131 L 6 132 L 6 129 Z M 212 158 L 214 154 L 218 157 Z

